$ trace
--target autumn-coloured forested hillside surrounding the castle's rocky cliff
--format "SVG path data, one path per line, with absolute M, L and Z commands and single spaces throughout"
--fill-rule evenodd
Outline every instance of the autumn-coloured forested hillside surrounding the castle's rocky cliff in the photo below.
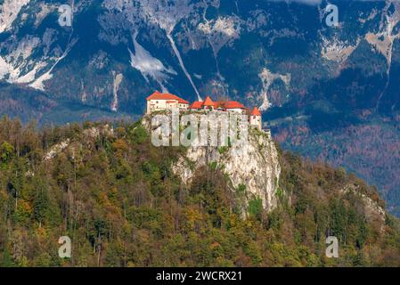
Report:
M 1 119 L 0 266 L 400 266 L 400 223 L 355 175 L 280 151 L 278 208 L 254 199 L 243 219 L 246 189 L 216 167 L 188 187 L 173 175 L 184 151 L 153 147 L 140 122 Z

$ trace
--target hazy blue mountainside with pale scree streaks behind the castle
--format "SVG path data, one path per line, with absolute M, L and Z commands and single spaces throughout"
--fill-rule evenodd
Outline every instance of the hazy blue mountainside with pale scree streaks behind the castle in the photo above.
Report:
M 65 123 L 137 117 L 155 89 L 230 97 L 264 110 L 284 148 L 376 184 L 398 214 L 400 4 L 330 3 L 333 27 L 324 0 L 3 0 L 0 111 Z

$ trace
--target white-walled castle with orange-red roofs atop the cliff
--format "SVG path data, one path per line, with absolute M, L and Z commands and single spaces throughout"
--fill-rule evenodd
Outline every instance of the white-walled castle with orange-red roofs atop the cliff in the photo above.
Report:
M 186 100 L 174 95 L 167 93 L 160 93 L 156 91 L 146 98 L 147 109 L 146 114 L 159 110 L 172 110 L 178 109 L 180 111 L 193 110 L 193 111 L 228 111 L 236 112 L 243 115 L 249 116 L 250 126 L 255 126 L 258 129 L 262 129 L 262 117 L 257 107 L 253 110 L 246 108 L 241 102 L 236 101 L 219 101 L 214 102 L 207 96 L 204 101 L 193 102 L 189 105 Z

